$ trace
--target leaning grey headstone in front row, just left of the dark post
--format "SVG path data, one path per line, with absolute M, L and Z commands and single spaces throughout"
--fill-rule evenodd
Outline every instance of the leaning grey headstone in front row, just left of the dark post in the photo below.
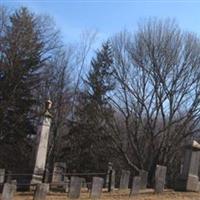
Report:
M 92 180 L 92 191 L 91 191 L 91 198 L 92 199 L 100 199 L 101 192 L 103 188 L 103 178 L 100 177 L 93 177 Z

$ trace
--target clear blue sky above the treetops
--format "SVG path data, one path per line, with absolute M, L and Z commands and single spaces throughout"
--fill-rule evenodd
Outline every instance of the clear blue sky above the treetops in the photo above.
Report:
M 8 7 L 27 6 L 54 18 L 64 41 L 75 41 L 84 29 L 96 29 L 106 39 L 124 28 L 135 30 L 139 20 L 175 18 L 182 29 L 200 35 L 200 0 L 0 0 Z

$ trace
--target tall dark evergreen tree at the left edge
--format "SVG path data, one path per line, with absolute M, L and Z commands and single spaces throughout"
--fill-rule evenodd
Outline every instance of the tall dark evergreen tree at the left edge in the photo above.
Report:
M 4 150 L 0 149 L 0 164 L 6 168 L 20 163 L 19 157 L 23 159 L 22 154 L 30 150 L 27 135 L 35 133 L 34 90 L 39 87 L 44 61 L 49 56 L 49 43 L 44 40 L 47 24 L 41 26 L 40 20 L 27 8 L 20 8 L 10 16 L 4 34 L 1 34 L 0 146 Z M 47 39 L 50 39 L 49 35 Z M 12 152 L 18 152 L 19 157 L 12 157 L 11 162 L 7 154 Z

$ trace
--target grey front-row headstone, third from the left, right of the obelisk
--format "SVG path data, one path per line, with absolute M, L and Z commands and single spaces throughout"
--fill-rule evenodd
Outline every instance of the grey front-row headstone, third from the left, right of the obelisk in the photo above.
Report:
M 81 193 L 81 178 L 72 176 L 70 180 L 69 198 L 78 199 Z

